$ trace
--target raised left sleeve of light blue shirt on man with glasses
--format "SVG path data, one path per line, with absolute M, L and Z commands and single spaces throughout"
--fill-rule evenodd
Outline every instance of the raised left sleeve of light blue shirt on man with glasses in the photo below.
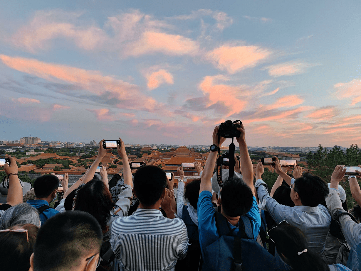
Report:
M 260 200 L 260 209 L 267 210 L 273 220 L 278 224 L 286 219 L 286 214 L 290 214 L 292 207 L 279 204 L 267 191 L 267 185 L 261 179 L 255 183 L 258 199 Z

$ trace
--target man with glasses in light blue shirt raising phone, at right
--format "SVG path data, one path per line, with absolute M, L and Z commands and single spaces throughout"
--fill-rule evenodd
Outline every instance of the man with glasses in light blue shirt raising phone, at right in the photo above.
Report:
M 331 225 L 330 212 L 321 205 L 329 194 L 327 183 L 309 172 L 293 179 L 282 171 L 277 160 L 274 163 L 276 173 L 291 187 L 290 196 L 295 206 L 281 205 L 268 194 L 267 185 L 262 181 L 264 168 L 260 162 L 256 166 L 255 183 L 259 207 L 267 210 L 276 223 L 286 220 L 303 231 L 308 239 L 309 250 L 324 257 L 323 250 Z

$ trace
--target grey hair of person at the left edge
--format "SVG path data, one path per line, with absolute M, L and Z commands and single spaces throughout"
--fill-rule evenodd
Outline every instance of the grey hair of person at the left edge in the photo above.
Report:
M 20 203 L 7 209 L 0 217 L 0 230 L 28 223 L 40 227 L 39 213 L 31 205 Z

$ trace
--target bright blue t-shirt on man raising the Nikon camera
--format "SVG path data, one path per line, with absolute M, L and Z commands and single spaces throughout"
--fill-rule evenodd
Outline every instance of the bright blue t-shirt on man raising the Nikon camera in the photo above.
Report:
M 203 258 L 205 258 L 204 249 L 219 238 L 216 226 L 216 219 L 214 218 L 216 210 L 214 210 L 214 206 L 212 204 L 211 192 L 202 191 L 199 194 L 197 213 L 199 243 L 201 246 L 202 256 Z M 256 239 L 257 235 L 260 233 L 261 228 L 261 216 L 260 211 L 258 210 L 256 197 L 253 197 L 252 207 L 248 211 L 248 213 L 245 214 L 245 216 L 251 219 L 253 238 Z M 238 227 L 231 225 L 231 223 L 229 223 L 229 226 L 231 229 L 235 228 L 233 232 L 236 235 L 238 233 Z

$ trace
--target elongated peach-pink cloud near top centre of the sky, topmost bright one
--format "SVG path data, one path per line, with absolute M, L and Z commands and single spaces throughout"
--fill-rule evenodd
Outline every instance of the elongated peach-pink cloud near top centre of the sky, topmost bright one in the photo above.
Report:
M 146 31 L 139 40 L 127 47 L 124 54 L 134 57 L 152 53 L 195 55 L 198 50 L 197 42 L 187 37 Z

